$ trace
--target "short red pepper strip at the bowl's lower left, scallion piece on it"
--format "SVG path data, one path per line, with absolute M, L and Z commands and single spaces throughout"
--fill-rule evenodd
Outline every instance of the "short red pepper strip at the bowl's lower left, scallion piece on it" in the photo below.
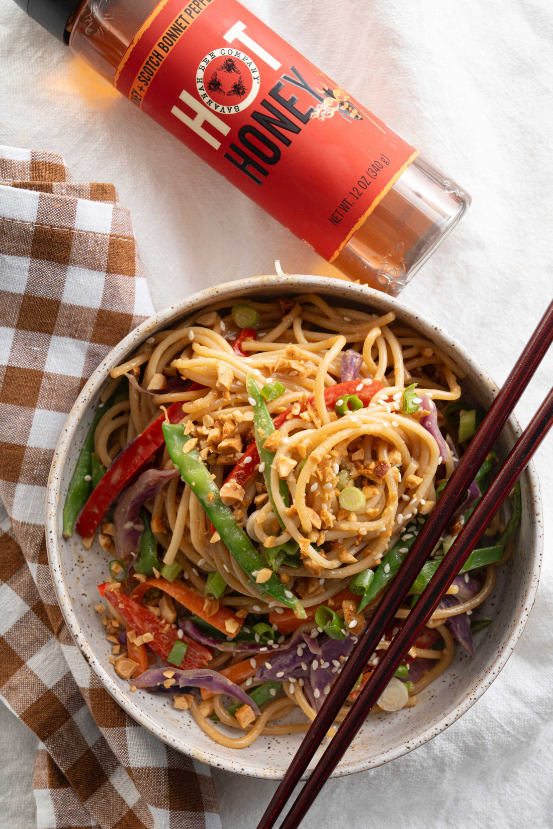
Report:
M 123 590 L 113 589 L 113 586 L 108 584 L 104 596 L 109 604 L 113 605 L 119 616 L 124 619 L 124 623 L 127 625 L 127 636 L 129 636 L 129 630 L 133 630 L 137 636 L 151 633 L 153 639 L 148 642 L 148 647 L 166 662 L 175 642 L 178 641 L 184 642 L 188 647 L 181 664 L 175 667 L 188 671 L 192 668 L 204 667 L 207 662 L 210 662 L 212 654 L 209 648 L 204 647 L 199 642 L 194 642 L 186 634 L 182 636 L 182 639 L 178 637 L 175 628 L 167 626 L 167 622 L 154 616 L 151 610 L 143 607 L 142 604 L 128 596 Z

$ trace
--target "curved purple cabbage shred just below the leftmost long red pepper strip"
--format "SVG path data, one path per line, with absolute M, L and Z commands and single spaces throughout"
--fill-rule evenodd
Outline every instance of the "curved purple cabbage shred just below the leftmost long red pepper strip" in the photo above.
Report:
M 129 561 L 138 553 L 143 532 L 136 529 L 141 526 L 140 507 L 177 475 L 177 469 L 147 469 L 125 489 L 114 511 L 114 544 L 120 560 Z

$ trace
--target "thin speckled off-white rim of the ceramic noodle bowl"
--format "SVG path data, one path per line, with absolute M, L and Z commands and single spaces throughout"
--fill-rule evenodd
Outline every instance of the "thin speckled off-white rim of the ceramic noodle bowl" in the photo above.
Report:
M 346 291 L 349 294 L 348 299 L 351 301 L 357 301 L 365 306 L 371 306 L 371 304 L 375 304 L 377 306 L 384 302 L 389 304 L 391 308 L 410 315 L 411 318 L 415 318 L 416 323 L 418 323 L 421 327 L 432 327 L 434 332 L 436 332 L 439 337 L 442 337 L 445 341 L 449 342 L 451 351 L 456 352 L 458 356 L 462 356 L 464 361 L 468 362 L 473 367 L 474 371 L 479 371 L 482 376 L 487 379 L 489 384 L 497 390 L 497 385 L 493 383 L 488 375 L 488 372 L 480 366 L 478 361 L 475 360 L 473 355 L 466 348 L 459 345 L 459 343 L 449 334 L 449 332 L 444 331 L 444 329 L 439 325 L 429 322 L 421 313 L 417 312 L 413 308 L 410 308 L 407 303 L 404 303 L 400 299 L 390 298 L 389 296 L 371 288 L 366 288 L 366 286 L 347 283 L 340 279 L 329 279 L 327 277 L 304 274 L 286 274 L 284 276 L 275 275 L 254 277 L 250 279 L 238 279 L 230 283 L 206 288 L 203 291 L 194 293 L 191 296 L 182 299 L 180 302 L 174 303 L 169 308 L 164 308 L 162 311 L 154 314 L 140 326 L 135 328 L 133 332 L 130 332 L 127 337 L 125 337 L 117 346 L 114 347 L 112 351 L 109 352 L 92 376 L 90 376 L 90 380 L 81 390 L 78 399 L 75 401 L 75 405 L 68 415 L 65 427 L 61 433 L 61 438 L 56 447 L 47 487 L 46 545 L 52 580 L 56 588 L 57 599 L 65 618 L 65 623 L 67 623 L 75 642 L 80 647 L 80 651 L 84 654 L 87 662 L 90 664 L 90 667 L 93 671 L 95 671 L 96 675 L 99 677 L 99 680 L 102 682 L 106 690 L 109 691 L 109 694 L 114 697 L 119 705 L 121 705 L 121 707 L 127 711 L 131 717 L 133 717 L 133 720 L 136 720 L 140 725 L 143 725 L 156 737 L 163 739 L 164 742 L 171 744 L 174 748 L 182 751 L 184 754 L 189 754 L 196 760 L 206 764 L 217 765 L 219 768 L 224 768 L 231 772 L 240 772 L 241 764 L 239 758 L 237 758 L 235 763 L 226 762 L 224 759 L 221 762 L 221 755 L 217 753 L 216 744 L 214 744 L 214 750 L 212 752 L 204 751 L 200 748 L 191 750 L 188 744 L 184 745 L 180 743 L 179 739 L 175 738 L 173 734 L 168 734 L 166 730 L 160 727 L 160 725 L 158 725 L 153 718 L 151 718 L 135 701 L 133 701 L 132 696 L 125 695 L 119 690 L 118 687 L 114 686 L 112 677 L 109 675 L 109 671 L 106 670 L 104 664 L 99 660 L 99 657 L 97 657 L 94 649 L 90 646 L 90 642 L 86 638 L 85 633 L 80 626 L 79 620 L 75 613 L 75 608 L 71 603 L 69 594 L 65 588 L 61 550 L 57 543 L 56 533 L 58 532 L 58 527 L 56 523 L 56 508 L 60 498 L 61 471 L 65 463 L 71 439 L 75 433 L 77 425 L 80 422 L 80 417 L 85 411 L 85 408 L 90 402 L 92 396 L 95 395 L 95 393 L 99 390 L 99 387 L 104 383 L 106 371 L 109 371 L 111 367 L 118 365 L 119 362 L 122 361 L 123 357 L 131 351 L 133 347 L 136 347 L 138 343 L 143 342 L 143 340 L 146 339 L 151 332 L 161 330 L 162 327 L 167 327 L 167 325 L 175 322 L 177 318 L 184 318 L 187 314 L 192 313 L 196 307 L 206 306 L 209 303 L 215 302 L 217 299 L 224 298 L 226 295 L 238 296 L 240 293 L 247 295 L 253 287 L 256 288 L 257 293 L 257 289 L 260 287 L 271 288 L 276 285 L 278 285 L 279 289 L 282 290 L 283 295 L 287 292 L 298 293 L 298 286 L 300 284 L 304 292 L 332 293 L 332 290 L 339 290 L 339 292 Z M 511 423 L 514 424 L 517 434 L 520 434 L 521 429 L 517 424 L 517 421 L 512 418 Z M 488 687 L 492 684 L 492 681 L 498 675 L 499 671 L 501 671 L 502 667 L 504 667 L 507 659 L 511 656 L 511 653 L 521 636 L 526 620 L 531 611 L 531 607 L 534 603 L 541 568 L 541 539 L 543 537 L 541 525 L 541 493 L 536 470 L 532 463 L 526 470 L 526 481 L 528 482 L 530 490 L 531 502 L 536 507 L 536 516 L 534 516 L 536 520 L 536 535 L 539 536 L 540 541 L 538 541 L 534 554 L 531 558 L 531 570 L 528 573 L 526 594 L 524 594 L 523 601 L 524 608 L 521 613 L 519 613 L 518 617 L 513 619 L 511 636 L 508 638 L 505 646 L 502 648 L 502 651 L 497 653 L 495 661 L 488 667 L 485 678 L 475 689 L 469 690 L 465 693 L 465 696 L 454 708 L 454 710 L 451 710 L 449 715 L 444 715 L 442 720 L 440 720 L 437 725 L 433 725 L 428 730 L 424 730 L 419 734 L 416 734 L 415 739 L 406 740 L 405 744 L 398 745 L 394 749 L 383 751 L 382 754 L 379 755 L 377 762 L 374 760 L 368 762 L 360 761 L 355 764 L 348 765 L 347 768 L 341 768 L 338 766 L 332 776 L 340 777 L 345 774 L 363 771 L 366 768 L 375 768 L 376 765 L 388 763 L 390 760 L 396 759 L 403 754 L 407 754 L 412 749 L 424 744 L 429 739 L 432 739 L 434 736 L 444 731 L 449 725 L 452 725 L 455 720 L 458 720 L 458 718 L 463 715 L 471 707 L 471 705 L 479 699 L 480 696 L 483 695 L 484 691 L 488 689 Z M 541 531 L 538 532 L 539 530 Z M 240 754 L 240 752 L 237 752 L 237 754 Z M 256 768 L 255 771 L 248 770 L 245 773 L 261 778 L 279 779 L 281 777 L 279 773 L 276 773 L 270 768 Z

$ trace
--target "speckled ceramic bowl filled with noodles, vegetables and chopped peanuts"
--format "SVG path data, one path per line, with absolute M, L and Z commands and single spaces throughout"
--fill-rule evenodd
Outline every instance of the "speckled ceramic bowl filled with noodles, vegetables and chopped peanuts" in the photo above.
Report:
M 242 279 L 136 328 L 82 390 L 48 487 L 57 596 L 104 687 L 183 753 L 281 778 L 495 389 L 441 327 L 342 280 Z M 517 434 L 511 419 L 332 734 Z M 416 748 L 488 688 L 541 541 L 530 465 L 335 774 Z

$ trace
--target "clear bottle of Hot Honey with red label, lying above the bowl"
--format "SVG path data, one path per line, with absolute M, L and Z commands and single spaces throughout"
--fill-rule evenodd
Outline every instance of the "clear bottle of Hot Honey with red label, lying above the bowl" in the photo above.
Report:
M 470 203 L 237 0 L 17 2 L 349 279 L 399 293 Z

